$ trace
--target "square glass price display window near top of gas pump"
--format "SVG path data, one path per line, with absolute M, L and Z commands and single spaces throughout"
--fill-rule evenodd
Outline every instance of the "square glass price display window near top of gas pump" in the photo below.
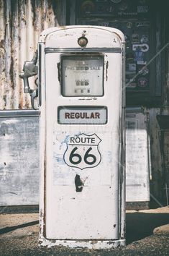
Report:
M 63 56 L 63 96 L 103 96 L 104 56 Z

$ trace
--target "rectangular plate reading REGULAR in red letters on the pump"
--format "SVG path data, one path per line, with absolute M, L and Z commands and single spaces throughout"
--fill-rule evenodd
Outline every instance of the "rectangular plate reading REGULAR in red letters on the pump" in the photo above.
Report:
M 106 107 L 65 107 L 58 108 L 59 124 L 106 124 Z

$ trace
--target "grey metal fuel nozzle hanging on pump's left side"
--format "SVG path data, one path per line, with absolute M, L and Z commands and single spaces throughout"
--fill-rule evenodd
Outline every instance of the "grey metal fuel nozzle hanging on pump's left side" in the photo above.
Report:
M 23 67 L 23 72 L 19 74 L 19 77 L 24 80 L 24 93 L 29 93 L 31 96 L 31 105 L 32 108 L 35 108 L 35 98 L 38 96 L 38 90 L 32 90 L 29 87 L 29 77 L 33 77 L 37 74 L 37 51 L 35 51 L 35 55 L 33 56 L 32 61 L 24 61 L 24 67 Z

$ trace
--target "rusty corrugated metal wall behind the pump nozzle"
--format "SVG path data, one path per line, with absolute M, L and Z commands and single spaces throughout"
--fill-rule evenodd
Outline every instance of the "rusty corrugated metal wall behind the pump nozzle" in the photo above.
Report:
M 1 110 L 31 108 L 19 72 L 32 59 L 42 30 L 58 25 L 65 25 L 65 1 L 0 0 Z M 34 88 L 34 78 L 29 82 Z

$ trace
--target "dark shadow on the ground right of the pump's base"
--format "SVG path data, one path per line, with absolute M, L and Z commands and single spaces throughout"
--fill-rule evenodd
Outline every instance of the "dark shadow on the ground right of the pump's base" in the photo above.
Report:
M 127 244 L 153 234 L 158 226 L 169 223 L 168 213 L 127 213 Z

